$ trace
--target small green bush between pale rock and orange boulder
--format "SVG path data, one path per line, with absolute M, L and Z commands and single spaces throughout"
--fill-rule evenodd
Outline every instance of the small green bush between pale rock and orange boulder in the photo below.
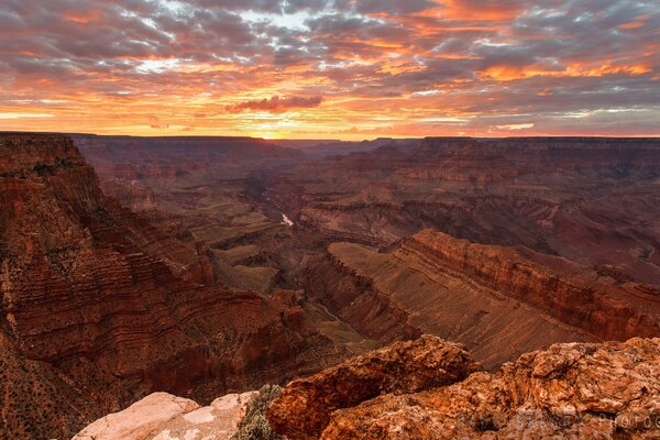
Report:
M 285 437 L 273 432 L 268 419 L 266 419 L 266 408 L 279 393 L 282 393 L 280 386 L 264 385 L 248 403 L 245 416 L 231 440 L 286 440 Z

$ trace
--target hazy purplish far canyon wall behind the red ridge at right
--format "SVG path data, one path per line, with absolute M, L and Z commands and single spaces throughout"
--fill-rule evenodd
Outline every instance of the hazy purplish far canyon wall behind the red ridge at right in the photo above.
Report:
M 300 164 L 266 194 L 329 240 L 384 248 L 433 228 L 660 285 L 659 169 L 657 139 L 429 138 Z

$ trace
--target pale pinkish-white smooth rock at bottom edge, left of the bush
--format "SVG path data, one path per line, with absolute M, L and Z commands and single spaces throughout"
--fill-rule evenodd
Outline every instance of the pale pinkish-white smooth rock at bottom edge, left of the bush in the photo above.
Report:
M 224 440 L 237 430 L 254 393 L 228 394 L 209 406 L 154 393 L 98 419 L 73 440 Z

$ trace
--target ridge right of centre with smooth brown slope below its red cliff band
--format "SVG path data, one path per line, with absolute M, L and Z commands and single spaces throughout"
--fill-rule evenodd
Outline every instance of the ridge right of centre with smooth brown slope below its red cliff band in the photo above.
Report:
M 308 297 L 366 338 L 465 344 L 485 367 L 558 342 L 660 336 L 656 288 L 612 268 L 424 230 L 377 251 L 332 243 L 302 273 Z

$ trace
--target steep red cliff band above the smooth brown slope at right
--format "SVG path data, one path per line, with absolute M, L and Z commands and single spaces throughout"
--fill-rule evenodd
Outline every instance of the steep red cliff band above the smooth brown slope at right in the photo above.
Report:
M 588 283 L 537 264 L 513 249 L 425 230 L 405 240 L 402 251 L 547 310 L 602 340 L 660 334 L 660 297 L 639 300 L 623 288 Z

